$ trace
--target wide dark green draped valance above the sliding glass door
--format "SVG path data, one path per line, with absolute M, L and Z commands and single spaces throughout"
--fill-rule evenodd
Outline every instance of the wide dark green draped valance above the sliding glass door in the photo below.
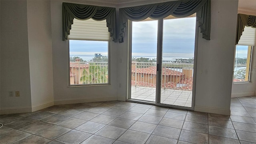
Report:
M 124 42 L 124 31 L 128 20 L 140 21 L 146 18 L 162 19 L 169 15 L 186 17 L 196 12 L 196 21 L 203 38 L 210 40 L 211 3 L 210 0 L 178 0 L 159 4 L 119 9 L 119 42 Z

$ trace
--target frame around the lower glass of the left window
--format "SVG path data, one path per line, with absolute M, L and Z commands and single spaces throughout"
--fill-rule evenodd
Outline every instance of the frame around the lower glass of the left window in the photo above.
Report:
M 89 41 L 89 40 L 88 40 Z M 106 42 L 106 41 L 104 41 Z M 108 42 L 108 83 L 101 83 L 101 84 L 70 84 L 70 44 L 69 44 L 69 40 L 66 40 L 66 44 L 67 44 L 67 48 L 68 48 L 68 65 L 67 65 L 67 79 L 68 79 L 68 87 L 72 88 L 72 87 L 87 87 L 87 86 L 109 86 L 111 85 L 111 46 L 112 46 L 112 41 L 110 38 L 110 41 Z

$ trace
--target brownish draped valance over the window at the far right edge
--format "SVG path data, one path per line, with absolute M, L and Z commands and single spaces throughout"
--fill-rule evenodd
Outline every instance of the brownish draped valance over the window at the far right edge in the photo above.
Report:
M 245 26 L 256 28 L 256 16 L 246 15 L 246 14 L 237 15 L 236 44 L 238 44 L 240 37 L 244 32 Z

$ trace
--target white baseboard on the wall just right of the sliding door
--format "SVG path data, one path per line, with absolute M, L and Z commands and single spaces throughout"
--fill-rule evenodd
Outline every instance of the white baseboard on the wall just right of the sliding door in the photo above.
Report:
M 226 109 L 220 109 L 220 108 L 210 108 L 210 107 L 204 107 L 204 106 L 195 106 L 194 111 L 197 112 L 208 112 L 213 114 L 223 114 L 230 116 L 230 110 Z

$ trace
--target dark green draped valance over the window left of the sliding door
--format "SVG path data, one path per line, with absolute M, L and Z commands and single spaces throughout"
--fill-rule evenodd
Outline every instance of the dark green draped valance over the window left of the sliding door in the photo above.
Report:
M 112 41 L 117 41 L 116 36 L 116 8 L 91 6 L 84 4 L 62 3 L 62 40 L 66 40 L 70 34 L 74 18 L 78 20 L 106 20 L 106 26 L 110 32 Z

